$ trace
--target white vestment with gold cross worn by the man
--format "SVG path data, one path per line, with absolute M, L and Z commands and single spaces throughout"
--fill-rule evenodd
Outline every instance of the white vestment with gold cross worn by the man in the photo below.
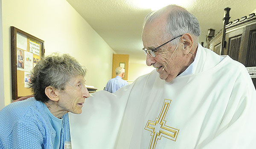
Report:
M 70 114 L 73 149 L 256 149 L 256 90 L 239 62 L 198 45 L 192 74 L 154 70 Z

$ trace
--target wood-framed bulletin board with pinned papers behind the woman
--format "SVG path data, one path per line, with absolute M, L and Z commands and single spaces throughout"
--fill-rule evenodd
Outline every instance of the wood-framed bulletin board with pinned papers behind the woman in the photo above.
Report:
M 30 71 L 44 57 L 44 41 L 11 26 L 12 100 L 31 95 Z

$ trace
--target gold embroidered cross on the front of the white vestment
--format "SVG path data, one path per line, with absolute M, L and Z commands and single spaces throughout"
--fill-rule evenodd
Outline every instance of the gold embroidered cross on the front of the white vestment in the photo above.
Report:
M 165 99 L 159 116 L 154 120 L 148 120 L 145 130 L 151 132 L 151 140 L 148 149 L 155 149 L 157 146 L 157 140 L 161 140 L 162 137 L 176 141 L 179 129 L 175 129 L 166 126 L 166 113 L 168 112 L 170 103 L 172 100 Z

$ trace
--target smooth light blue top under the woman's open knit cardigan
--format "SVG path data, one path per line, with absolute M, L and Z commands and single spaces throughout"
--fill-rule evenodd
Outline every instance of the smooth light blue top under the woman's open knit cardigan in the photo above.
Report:
M 62 118 L 57 118 L 49 111 L 47 106 L 44 104 L 44 110 L 47 113 L 47 116 L 49 117 L 49 120 L 52 124 L 53 129 L 56 132 L 56 136 L 53 143 L 53 149 L 59 149 L 60 148 L 60 142 L 61 142 L 61 126 L 62 126 Z

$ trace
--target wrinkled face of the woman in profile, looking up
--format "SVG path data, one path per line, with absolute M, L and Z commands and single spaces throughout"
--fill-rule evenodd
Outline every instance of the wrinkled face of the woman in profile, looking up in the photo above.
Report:
M 81 114 L 85 98 L 88 98 L 89 92 L 84 85 L 84 77 L 72 77 L 60 92 L 58 105 L 61 109 L 75 114 Z

